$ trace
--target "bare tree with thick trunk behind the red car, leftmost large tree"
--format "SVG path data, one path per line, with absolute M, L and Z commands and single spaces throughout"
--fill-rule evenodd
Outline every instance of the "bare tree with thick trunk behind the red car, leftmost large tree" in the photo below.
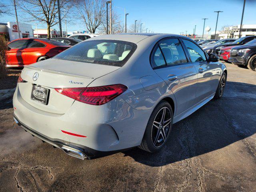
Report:
M 69 3 L 70 0 L 60 0 L 60 9 L 66 9 L 62 18 L 70 9 Z M 50 28 L 59 23 L 57 0 L 19 0 L 18 6 L 30 15 L 30 21 L 45 22 L 47 37 L 50 38 Z

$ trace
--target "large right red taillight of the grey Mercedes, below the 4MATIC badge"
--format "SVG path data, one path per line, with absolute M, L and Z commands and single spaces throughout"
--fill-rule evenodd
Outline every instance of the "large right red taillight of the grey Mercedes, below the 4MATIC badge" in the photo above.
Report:
M 86 88 L 55 88 L 65 96 L 90 105 L 103 105 L 127 90 L 122 84 Z

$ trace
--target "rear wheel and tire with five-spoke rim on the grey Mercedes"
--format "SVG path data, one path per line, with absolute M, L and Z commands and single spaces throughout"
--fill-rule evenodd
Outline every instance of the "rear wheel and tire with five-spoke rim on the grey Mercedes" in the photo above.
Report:
M 164 110 L 165 116 L 162 118 Z M 172 121 L 173 112 L 171 105 L 166 101 L 161 101 L 154 108 L 148 120 L 139 148 L 151 153 L 160 151 L 169 138 Z

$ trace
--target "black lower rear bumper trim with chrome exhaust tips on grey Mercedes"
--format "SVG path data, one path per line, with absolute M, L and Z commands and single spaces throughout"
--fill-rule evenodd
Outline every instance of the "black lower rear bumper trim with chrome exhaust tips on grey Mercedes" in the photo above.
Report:
M 126 148 L 126 149 L 122 149 L 122 150 L 114 150 L 114 151 L 108 151 L 108 152 L 98 151 L 98 150 L 94 150 L 92 148 L 74 144 L 71 142 L 68 144 L 68 143 L 63 142 L 63 140 L 49 138 L 48 136 L 40 134 L 36 130 L 33 130 L 32 128 L 30 128 L 30 127 L 26 126 L 25 124 L 23 124 L 22 122 L 20 122 L 20 120 L 15 115 L 14 115 L 14 121 L 19 126 L 21 126 L 26 132 L 29 132 L 30 134 L 32 134 L 32 136 L 36 136 L 43 142 L 47 142 L 47 143 L 51 144 L 52 146 L 54 146 L 55 148 L 59 148 L 59 149 L 63 150 L 66 154 L 68 154 L 70 156 L 74 156 L 74 157 L 82 159 L 82 160 L 84 160 L 84 159 L 90 160 L 90 159 L 94 159 L 94 158 L 99 158 L 99 157 L 115 154 L 117 152 L 122 152 L 125 150 L 129 150 L 131 148 L 134 148 L 134 147 L 131 147 L 131 148 Z

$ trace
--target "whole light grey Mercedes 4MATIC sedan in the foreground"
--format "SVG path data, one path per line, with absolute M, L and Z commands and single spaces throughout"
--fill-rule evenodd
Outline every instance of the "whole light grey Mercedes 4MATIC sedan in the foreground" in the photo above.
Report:
M 25 66 L 14 120 L 71 156 L 157 152 L 172 124 L 221 98 L 226 66 L 173 34 L 111 34 Z

